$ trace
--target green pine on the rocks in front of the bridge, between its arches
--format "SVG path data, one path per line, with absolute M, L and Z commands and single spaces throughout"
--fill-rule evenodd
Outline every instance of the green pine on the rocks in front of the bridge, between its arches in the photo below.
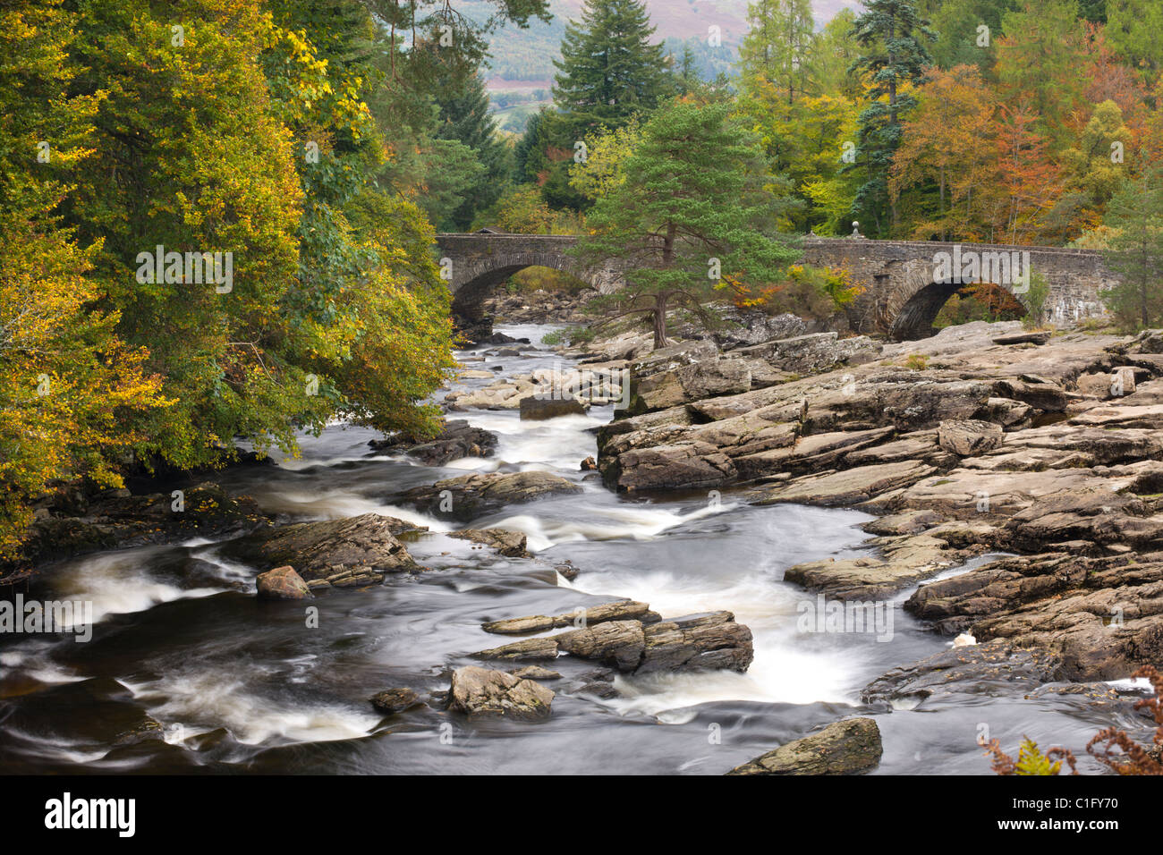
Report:
M 730 104 L 661 108 L 622 171 L 622 184 L 590 213 L 577 251 L 625 265 L 626 286 L 606 301 L 611 318 L 649 316 L 656 348 L 666 344 L 668 309 L 711 322 L 705 304 L 720 288 L 772 282 L 798 255 L 768 234 L 786 197 L 771 192 L 763 149 Z

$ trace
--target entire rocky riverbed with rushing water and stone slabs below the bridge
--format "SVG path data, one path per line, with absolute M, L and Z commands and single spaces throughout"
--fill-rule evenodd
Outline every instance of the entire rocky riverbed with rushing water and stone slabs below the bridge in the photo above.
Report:
M 984 774 L 983 725 L 1144 731 L 1163 335 L 499 332 L 430 442 L 45 507 L 30 593 L 97 627 L 0 648 L 0 761 Z

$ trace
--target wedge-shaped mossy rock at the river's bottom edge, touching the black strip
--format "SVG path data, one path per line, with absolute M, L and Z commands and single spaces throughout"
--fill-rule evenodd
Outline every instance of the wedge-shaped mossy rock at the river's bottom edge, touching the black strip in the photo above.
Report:
M 880 763 L 884 748 L 873 719 L 846 719 L 783 744 L 728 775 L 861 775 Z

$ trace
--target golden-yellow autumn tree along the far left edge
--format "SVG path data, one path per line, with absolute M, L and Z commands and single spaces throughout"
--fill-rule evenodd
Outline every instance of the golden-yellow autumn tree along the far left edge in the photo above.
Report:
M 116 335 L 58 206 L 94 169 L 104 92 L 73 91 L 78 38 L 58 0 L 0 9 L 0 562 L 19 558 L 33 504 L 78 482 L 121 486 L 119 457 L 171 401 L 148 354 Z

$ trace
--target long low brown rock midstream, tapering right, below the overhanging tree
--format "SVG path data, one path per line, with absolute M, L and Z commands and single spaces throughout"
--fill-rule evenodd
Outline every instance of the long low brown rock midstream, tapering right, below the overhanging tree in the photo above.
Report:
M 466 522 L 506 505 L 578 492 L 577 484 L 550 472 L 477 472 L 414 487 L 401 498 L 434 516 Z

